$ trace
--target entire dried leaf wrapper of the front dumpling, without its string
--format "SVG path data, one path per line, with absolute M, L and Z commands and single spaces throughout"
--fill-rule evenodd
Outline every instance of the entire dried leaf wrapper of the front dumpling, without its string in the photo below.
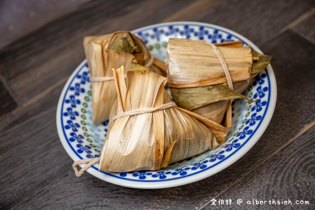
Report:
M 123 81 L 123 70 L 117 69 L 115 72 L 115 82 L 118 82 L 118 77 L 119 81 Z M 123 110 L 158 107 L 171 102 L 164 89 L 167 78 L 148 71 L 129 71 L 127 77 L 126 88 L 120 82 L 117 84 L 117 93 L 121 97 L 125 95 L 125 100 L 120 100 L 118 96 L 111 117 Z M 226 135 L 223 126 L 200 116 L 205 121 L 201 122 L 189 113 L 170 107 L 152 113 L 123 116 L 113 121 L 102 149 L 100 170 L 158 170 L 162 160 L 164 167 L 179 158 L 214 149 L 223 143 L 222 139 L 224 141 Z M 170 149 L 169 146 L 178 139 L 193 141 L 179 141 L 174 143 L 174 150 Z M 170 150 L 171 159 L 163 159 L 167 150 Z

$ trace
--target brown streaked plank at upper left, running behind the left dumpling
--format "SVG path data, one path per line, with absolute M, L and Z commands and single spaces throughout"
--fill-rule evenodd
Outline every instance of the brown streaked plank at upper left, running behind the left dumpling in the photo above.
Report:
M 84 60 L 84 36 L 158 23 L 164 15 L 173 14 L 192 2 L 161 0 L 152 4 L 152 1 L 112 0 L 85 4 L 4 48 L 0 52 L 0 73 L 22 105 L 60 79 L 69 77 Z

